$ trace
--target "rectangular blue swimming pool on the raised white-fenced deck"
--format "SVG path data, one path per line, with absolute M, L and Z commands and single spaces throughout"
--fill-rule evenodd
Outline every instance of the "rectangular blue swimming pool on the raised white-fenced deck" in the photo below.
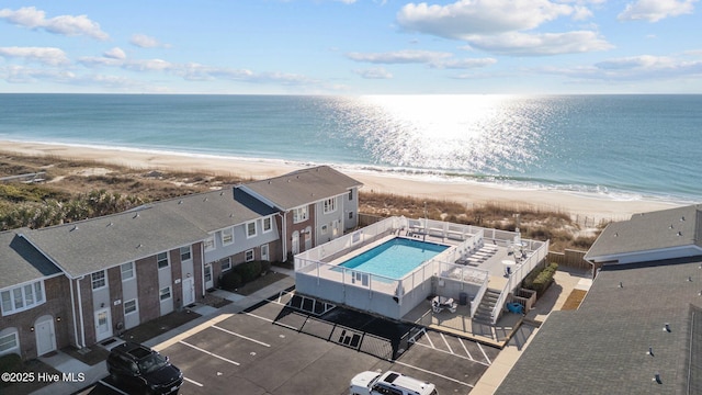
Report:
M 396 237 L 360 253 L 339 267 L 400 280 L 449 246 Z

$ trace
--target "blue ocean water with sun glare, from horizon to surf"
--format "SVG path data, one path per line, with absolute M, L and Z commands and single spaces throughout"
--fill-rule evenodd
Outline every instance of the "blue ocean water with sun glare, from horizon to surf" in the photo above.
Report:
M 702 95 L 7 93 L 0 139 L 702 201 Z

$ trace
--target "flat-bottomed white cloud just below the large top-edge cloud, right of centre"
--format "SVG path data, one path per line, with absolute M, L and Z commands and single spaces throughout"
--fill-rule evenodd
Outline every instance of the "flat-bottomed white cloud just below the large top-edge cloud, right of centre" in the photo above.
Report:
M 613 48 L 605 40 L 589 31 L 543 34 L 506 33 L 496 36 L 475 36 L 468 42 L 480 49 L 512 56 L 550 56 Z

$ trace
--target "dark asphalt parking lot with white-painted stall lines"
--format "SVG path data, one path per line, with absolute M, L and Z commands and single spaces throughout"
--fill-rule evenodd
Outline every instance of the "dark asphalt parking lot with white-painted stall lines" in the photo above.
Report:
M 292 306 L 292 307 L 291 307 Z M 159 347 L 160 349 L 160 347 Z M 348 394 L 351 377 L 394 370 L 468 394 L 498 349 L 282 292 L 167 342 L 180 394 Z M 107 379 L 90 394 L 120 393 Z

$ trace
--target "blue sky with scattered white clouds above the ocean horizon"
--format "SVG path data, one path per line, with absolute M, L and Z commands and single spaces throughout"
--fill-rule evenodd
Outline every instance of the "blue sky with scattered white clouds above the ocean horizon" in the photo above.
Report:
M 697 0 L 2 1 L 0 92 L 702 93 Z

